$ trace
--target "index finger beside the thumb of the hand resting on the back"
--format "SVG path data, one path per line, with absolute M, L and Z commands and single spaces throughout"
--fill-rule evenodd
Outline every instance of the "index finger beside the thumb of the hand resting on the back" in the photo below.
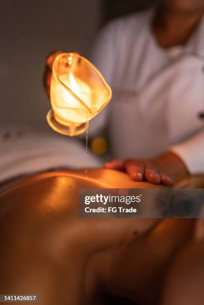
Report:
M 125 170 L 133 181 L 141 182 L 144 179 L 144 162 L 127 160 L 124 163 Z

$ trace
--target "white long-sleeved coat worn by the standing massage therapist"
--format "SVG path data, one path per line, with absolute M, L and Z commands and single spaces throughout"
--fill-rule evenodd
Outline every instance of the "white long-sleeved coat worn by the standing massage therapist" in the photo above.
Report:
M 90 122 L 109 124 L 114 157 L 177 153 L 191 173 L 204 172 L 204 17 L 185 46 L 161 48 L 151 32 L 153 10 L 110 22 L 92 61 L 113 90 Z

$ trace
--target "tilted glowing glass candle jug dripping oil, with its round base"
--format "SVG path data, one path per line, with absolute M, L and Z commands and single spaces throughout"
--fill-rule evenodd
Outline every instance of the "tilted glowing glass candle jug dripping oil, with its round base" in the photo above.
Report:
M 53 63 L 52 110 L 47 114 L 47 121 L 58 133 L 79 135 L 111 97 L 111 89 L 103 76 L 86 58 L 76 53 L 60 54 Z

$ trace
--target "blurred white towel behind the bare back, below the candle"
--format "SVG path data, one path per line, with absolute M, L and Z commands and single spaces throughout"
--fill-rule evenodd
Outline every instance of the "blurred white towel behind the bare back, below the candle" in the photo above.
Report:
M 100 167 L 76 138 L 31 129 L 0 129 L 0 182 L 49 169 Z

